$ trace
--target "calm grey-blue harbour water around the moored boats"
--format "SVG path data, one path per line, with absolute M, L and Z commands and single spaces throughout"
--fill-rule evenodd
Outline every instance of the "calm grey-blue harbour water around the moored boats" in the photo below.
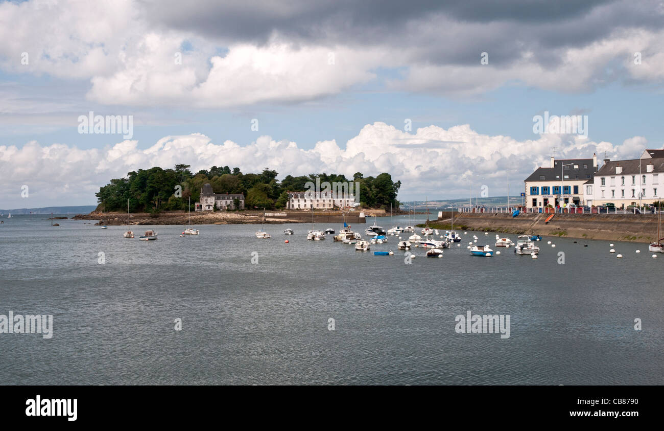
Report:
M 54 335 L 0 334 L 0 384 L 664 384 L 664 255 L 647 244 L 616 242 L 616 259 L 609 241 L 544 237 L 539 259 L 483 258 L 461 232 L 407 265 L 394 237 L 361 253 L 306 241 L 310 224 L 264 240 L 255 225 L 134 226 L 159 232 L 139 241 L 38 217 L 1 218 L 0 314 L 53 315 Z M 457 334 L 468 310 L 511 315 L 511 337 Z

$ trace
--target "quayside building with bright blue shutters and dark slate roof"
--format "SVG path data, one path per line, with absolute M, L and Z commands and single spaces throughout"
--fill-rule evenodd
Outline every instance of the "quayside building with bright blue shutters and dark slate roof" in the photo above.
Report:
M 592 180 L 596 172 L 596 154 L 590 159 L 555 160 L 552 157 L 550 167 L 537 168 L 526 178 L 526 206 L 542 208 L 550 205 L 556 208 L 566 204 L 587 205 L 588 190 L 594 189 Z

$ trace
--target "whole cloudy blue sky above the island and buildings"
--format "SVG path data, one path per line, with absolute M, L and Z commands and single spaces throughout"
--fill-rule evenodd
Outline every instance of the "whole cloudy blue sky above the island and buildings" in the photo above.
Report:
M 505 196 L 554 154 L 664 146 L 660 0 L 4 1 L 0 23 L 0 208 L 179 163 Z

